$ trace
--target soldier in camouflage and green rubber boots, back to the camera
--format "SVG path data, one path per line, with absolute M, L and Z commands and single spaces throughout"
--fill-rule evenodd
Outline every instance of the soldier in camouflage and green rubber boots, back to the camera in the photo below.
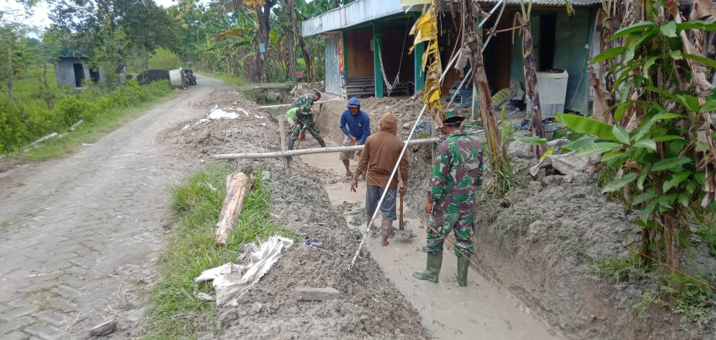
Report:
M 427 269 L 413 273 L 415 278 L 437 282 L 442 267 L 442 246 L 450 230 L 455 230 L 455 255 L 458 256 L 458 285 L 468 284 L 468 258 L 475 253 L 473 218 L 475 194 L 482 185 L 483 148 L 480 142 L 460 131 L 465 117 L 446 113 L 442 132 L 447 135 L 437 149 L 425 213 L 430 214 L 427 228 Z

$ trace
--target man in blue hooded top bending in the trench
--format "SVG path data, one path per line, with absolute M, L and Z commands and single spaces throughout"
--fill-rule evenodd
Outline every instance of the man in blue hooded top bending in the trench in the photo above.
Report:
M 352 97 L 348 100 L 348 110 L 341 115 L 341 131 L 346 135 L 343 140 L 343 146 L 364 145 L 365 140 L 370 135 L 370 118 L 363 110 L 360 110 L 360 100 Z M 360 155 L 360 152 L 341 152 L 339 155 L 343 165 L 346 167 L 346 176 L 353 177 L 350 168 L 350 160 L 354 155 Z

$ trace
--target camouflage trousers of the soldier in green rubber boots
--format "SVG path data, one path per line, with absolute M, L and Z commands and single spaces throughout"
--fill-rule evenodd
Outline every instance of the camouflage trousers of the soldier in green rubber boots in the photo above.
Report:
M 450 230 L 455 230 L 455 255 L 462 256 L 475 253 L 471 240 L 475 232 L 475 211 L 461 213 L 459 211 L 445 211 L 435 206 L 432 209 L 430 220 L 427 222 L 427 246 L 425 251 L 431 254 L 442 253 L 445 238 Z

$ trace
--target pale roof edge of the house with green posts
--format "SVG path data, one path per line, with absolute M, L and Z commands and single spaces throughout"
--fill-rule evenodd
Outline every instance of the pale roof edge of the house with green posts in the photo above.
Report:
M 448 0 L 449 1 L 449 0 Z M 453 0 L 455 1 L 455 0 Z M 485 4 L 497 4 L 500 0 L 478 0 Z M 521 0 L 506 0 L 508 5 L 519 5 Z M 532 0 L 538 6 L 563 6 L 564 0 Z M 426 0 L 357 0 L 332 9 L 319 16 L 304 20 L 301 34 L 311 37 L 316 34 L 339 31 L 368 21 L 381 19 L 408 11 L 422 11 Z M 601 0 L 569 0 L 572 6 L 594 6 Z

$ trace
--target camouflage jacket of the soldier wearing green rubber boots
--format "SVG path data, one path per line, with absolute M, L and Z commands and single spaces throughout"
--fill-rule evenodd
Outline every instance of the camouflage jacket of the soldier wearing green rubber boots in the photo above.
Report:
M 480 142 L 462 131 L 453 132 L 442 141 L 435 157 L 428 199 L 441 209 L 471 210 L 477 188 L 483 185 Z

